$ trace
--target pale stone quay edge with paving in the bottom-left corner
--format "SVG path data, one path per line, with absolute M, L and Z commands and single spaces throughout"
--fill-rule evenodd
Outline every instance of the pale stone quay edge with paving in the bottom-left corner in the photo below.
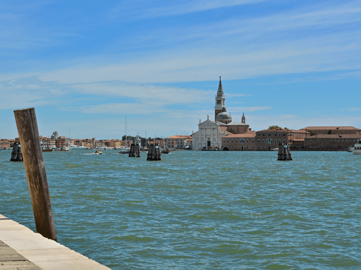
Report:
M 39 233 L 34 233 L 26 226 L 0 214 L 0 270 L 12 269 L 106 270 L 110 268 Z

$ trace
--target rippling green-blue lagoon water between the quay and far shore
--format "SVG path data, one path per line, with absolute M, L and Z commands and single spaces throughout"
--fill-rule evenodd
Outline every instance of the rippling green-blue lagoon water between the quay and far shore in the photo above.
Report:
M 43 153 L 58 242 L 112 269 L 360 269 L 361 156 Z M 0 213 L 35 230 L 0 151 Z

